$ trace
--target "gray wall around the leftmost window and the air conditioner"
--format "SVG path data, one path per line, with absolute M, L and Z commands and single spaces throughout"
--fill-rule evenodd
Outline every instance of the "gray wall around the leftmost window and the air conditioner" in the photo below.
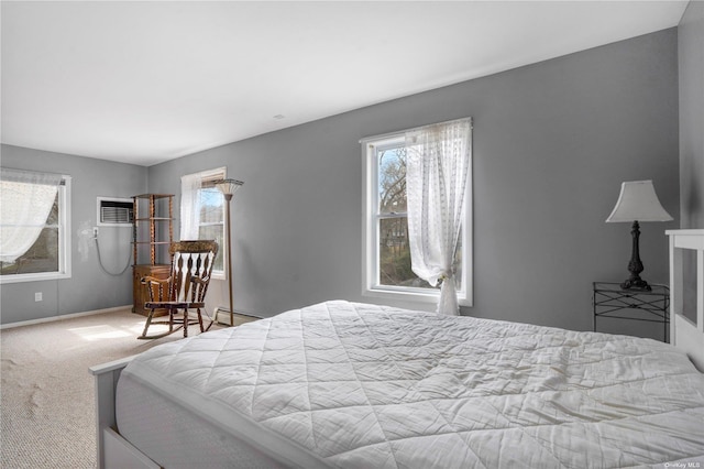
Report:
M 97 225 L 96 198 L 131 197 L 146 192 L 146 168 L 131 164 L 2 145 L 2 166 L 45 171 L 72 176 L 72 277 L 65 280 L 3 284 L 0 287 L 2 324 L 41 319 L 70 313 L 102 309 L 132 303 L 132 270 L 121 276 L 102 272 L 96 244 L 87 240 L 85 228 Z M 89 234 L 91 237 L 91 234 Z M 99 228 L 100 253 L 105 266 L 119 272 L 130 253 L 129 228 Z M 43 301 L 34 302 L 42 292 Z

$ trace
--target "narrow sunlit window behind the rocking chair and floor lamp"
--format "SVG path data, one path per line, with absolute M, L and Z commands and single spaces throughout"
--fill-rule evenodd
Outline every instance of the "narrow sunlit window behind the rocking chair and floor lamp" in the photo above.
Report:
M 226 168 L 188 174 L 182 177 L 180 239 L 215 239 L 218 255 L 212 268 L 213 279 L 226 279 L 224 197 L 215 182 L 226 178 Z

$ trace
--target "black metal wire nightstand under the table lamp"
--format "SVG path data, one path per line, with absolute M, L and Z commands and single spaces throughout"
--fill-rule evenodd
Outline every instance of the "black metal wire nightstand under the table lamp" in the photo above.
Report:
M 593 330 L 596 331 L 598 317 L 660 323 L 663 328 L 662 341 L 669 342 L 670 288 L 667 285 L 650 286 L 651 291 L 624 290 L 619 283 L 594 282 Z M 626 315 L 625 309 L 637 309 L 638 312 Z

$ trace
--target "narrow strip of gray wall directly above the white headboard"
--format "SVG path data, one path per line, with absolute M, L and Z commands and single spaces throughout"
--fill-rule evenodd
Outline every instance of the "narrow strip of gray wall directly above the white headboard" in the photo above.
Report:
M 681 228 L 704 228 L 704 2 L 690 2 L 678 39 Z

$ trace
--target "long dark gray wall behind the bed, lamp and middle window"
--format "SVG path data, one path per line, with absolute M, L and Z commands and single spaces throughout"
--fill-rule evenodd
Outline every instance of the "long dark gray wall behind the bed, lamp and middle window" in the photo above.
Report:
M 475 294 L 463 314 L 590 329 L 591 282 L 628 275 L 630 227 L 604 222 L 623 181 L 653 179 L 675 218 L 641 229 L 644 277 L 668 279 L 676 40 L 666 30 L 189 155 L 150 167 L 150 190 L 179 194 L 183 174 L 223 165 L 245 182 L 232 210 L 238 310 L 372 301 L 361 296 L 359 140 L 472 116 Z M 227 304 L 224 283 L 209 295 Z

